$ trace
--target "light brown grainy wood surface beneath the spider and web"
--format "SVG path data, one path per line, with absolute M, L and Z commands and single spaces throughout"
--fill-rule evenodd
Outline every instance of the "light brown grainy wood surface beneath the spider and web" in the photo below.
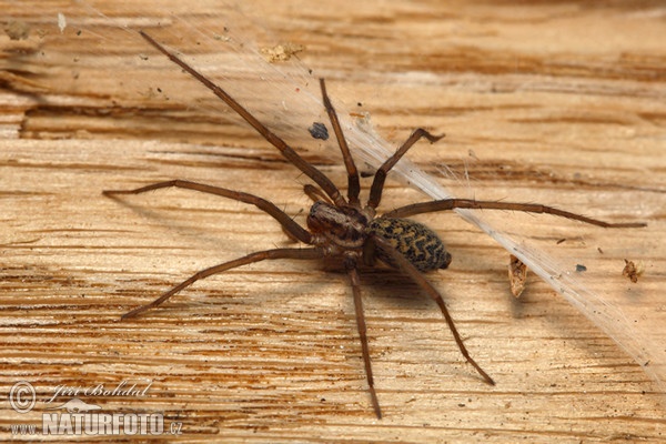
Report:
M 0 377 L 3 398 L 21 380 L 38 397 L 26 414 L 0 403 L 3 440 L 12 424 L 39 428 L 46 408 L 71 400 L 46 402 L 60 385 L 127 381 L 150 386 L 144 396 L 79 397 L 103 412 L 161 412 L 167 427 L 182 423 L 186 442 L 666 441 L 665 406 L 640 366 L 534 275 L 515 300 L 508 253 L 454 214 L 420 218 L 454 255 L 428 279 L 495 386 L 465 364 L 436 305 L 387 270 L 362 278 L 381 421 L 350 285 L 320 263 L 236 269 L 121 322 L 199 270 L 293 244 L 241 203 L 176 190 L 111 200 L 102 190 L 189 179 L 260 194 L 304 222 L 307 181 L 246 125 L 137 94 L 139 82 L 206 92 L 167 62 L 139 79 L 108 63 L 142 51 L 158 59 L 148 47 L 82 47 L 60 36 L 56 17 L 67 3 L 1 3 L 8 22 L 31 33 L 0 37 Z M 620 289 L 662 331 L 662 2 L 279 3 L 248 9 L 276 42 L 305 46 L 300 59 L 326 77 L 334 101 L 360 102 L 393 144 L 416 127 L 445 132 L 408 157 L 440 178 L 448 165 L 462 179 L 445 184 L 463 195 L 647 222 L 613 231 L 551 216 L 497 220 L 586 265 L 602 292 Z M 140 26 L 163 13 L 152 2 L 103 8 Z M 225 12 L 200 2 L 181 13 L 198 8 Z M 345 183 L 339 157 L 311 147 L 303 154 Z M 425 199 L 390 180 L 383 205 Z M 622 275 L 624 259 L 643 263 L 637 283 Z

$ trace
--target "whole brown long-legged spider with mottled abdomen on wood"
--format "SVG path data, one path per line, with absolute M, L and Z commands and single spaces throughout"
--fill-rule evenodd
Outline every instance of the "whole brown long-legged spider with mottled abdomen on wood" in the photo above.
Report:
M 433 299 L 444 320 L 453 334 L 453 339 L 465 360 L 478 372 L 483 381 L 494 385 L 493 379 L 474 361 L 467 352 L 465 344 L 455 327 L 453 317 L 448 313 L 444 300 L 437 290 L 424 278 L 422 273 L 438 269 L 446 269 L 451 263 L 451 254 L 446 251 L 444 243 L 437 234 L 430 228 L 405 219 L 410 215 L 428 213 L 435 211 L 454 209 L 476 209 L 476 210 L 512 210 L 529 213 L 547 213 L 556 216 L 567 218 L 593 225 L 604 228 L 640 228 L 645 223 L 608 223 L 581 214 L 572 213 L 535 203 L 514 203 L 514 202 L 494 202 L 478 201 L 473 199 L 444 199 L 415 203 L 395 210 L 389 211 L 382 215 L 376 214 L 376 209 L 382 200 L 382 191 L 386 174 L 400 161 L 400 159 L 420 139 L 426 139 L 434 143 L 444 135 L 433 135 L 424 129 L 415 130 L 410 138 L 389 158 L 375 172 L 370 196 L 365 205 L 359 200 L 361 191 L 359 172 L 354 160 L 345 141 L 342 127 L 337 119 L 335 109 L 326 93 L 326 85 L 323 79 L 320 79 L 320 87 L 324 108 L 329 114 L 333 131 L 337 139 L 340 150 L 347 172 L 347 196 L 341 194 L 333 182 L 323 174 L 316 167 L 306 162 L 280 137 L 269 130 L 263 123 L 254 118 L 246 109 L 230 97 L 222 88 L 205 78 L 194 68 L 181 60 L 178 56 L 170 52 L 162 44 L 157 42 L 148 33 L 139 32 L 153 48 L 167 56 L 172 62 L 181 67 L 185 72 L 209 88 L 215 95 L 222 99 L 231 109 L 240 114 L 250 125 L 252 125 L 268 142 L 274 145 L 286 160 L 294 167 L 312 179 L 317 186 L 306 184 L 305 194 L 314 202 L 307 215 L 307 229 L 304 229 L 280 210 L 272 202 L 258 195 L 234 191 L 230 189 L 206 185 L 184 180 L 172 180 L 168 182 L 153 183 L 135 190 L 107 190 L 103 194 L 115 196 L 119 194 L 140 194 L 152 190 L 165 188 L 181 188 L 202 193 L 221 195 L 234 201 L 253 204 L 281 225 L 283 231 L 294 240 L 297 240 L 310 248 L 279 248 L 254 252 L 233 261 L 224 262 L 219 265 L 202 270 L 188 280 L 172 287 L 153 302 L 139 306 L 122 316 L 123 320 L 134 317 L 150 309 L 153 309 L 172 295 L 192 285 L 194 282 L 205 279 L 210 275 L 222 273 L 242 265 L 279 259 L 292 260 L 321 260 L 332 258 L 343 265 L 349 275 L 354 300 L 356 314 L 356 326 L 361 340 L 361 351 L 365 366 L 365 377 L 370 398 L 374 413 L 377 418 L 382 417 L 382 410 L 374 387 L 370 351 L 367 345 L 367 335 L 365 317 L 363 314 L 363 302 L 361 299 L 361 283 L 359 278 L 359 266 L 361 264 L 373 266 L 382 262 L 390 268 L 396 269 L 411 278 L 431 299 Z

